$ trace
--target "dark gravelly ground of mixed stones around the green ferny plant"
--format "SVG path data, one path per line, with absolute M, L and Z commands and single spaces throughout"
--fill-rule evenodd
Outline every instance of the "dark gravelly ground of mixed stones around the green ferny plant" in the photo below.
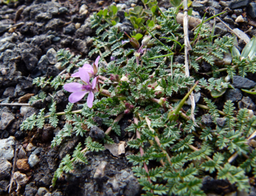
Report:
M 87 57 L 91 45 L 91 37 L 95 30 L 91 29 L 89 15 L 99 11 L 111 3 L 123 10 L 141 1 L 46 1 L 25 0 L 5 5 L 0 4 L 0 97 L 1 103 L 27 103 L 31 94 L 37 95 L 39 89 L 32 84 L 33 78 L 46 75 L 58 75 L 61 70 L 57 64 L 56 51 L 69 48 L 75 55 Z M 159 7 L 170 7 L 169 1 L 160 1 Z M 227 11 L 220 18 L 231 29 L 239 28 L 242 37 L 249 39 L 256 35 L 256 3 L 249 0 L 233 1 L 194 1 L 193 15 L 202 18 L 204 10 L 209 7 L 207 17 Z M 127 23 L 123 11 L 119 11 L 121 22 Z M 127 25 L 127 28 L 132 28 Z M 218 22 L 216 34 L 226 35 L 229 29 Z M 249 36 L 249 37 L 248 37 Z M 243 49 L 245 43 L 239 42 Z M 183 59 L 175 59 L 183 61 Z M 182 63 L 182 62 L 181 62 Z M 207 66 L 203 67 L 207 71 Z M 251 77 L 253 81 L 256 78 Z M 243 97 L 241 91 L 229 90 L 227 97 L 249 104 L 255 108 L 254 101 Z M 59 105 L 67 104 L 63 91 L 54 97 Z M 114 157 L 108 150 L 101 153 L 88 153 L 89 164 L 74 171 L 73 175 L 63 177 L 57 185 L 51 187 L 53 173 L 59 162 L 67 153 L 71 153 L 79 142 L 74 137 L 59 148 L 51 148 L 55 129 L 45 127 L 35 132 L 20 131 L 23 119 L 37 113 L 42 105 L 29 107 L 0 106 L 0 195 L 8 194 L 11 174 L 19 185 L 13 185 L 11 194 L 15 195 L 140 195 L 141 189 L 131 171 L 131 164 L 125 156 Z M 248 107 L 249 108 L 249 107 Z M 58 107 L 59 111 L 63 111 Z M 129 117 L 120 121 L 122 130 Z M 127 152 L 129 153 L 129 152 Z M 17 157 L 16 157 L 17 156 Z M 16 161 L 16 167 L 13 163 Z M 207 180 L 205 189 L 210 189 Z M 224 187 L 224 186 L 223 186 Z M 232 191 L 230 187 L 227 193 Z M 218 193 L 225 195 L 225 191 Z M 219 194 L 220 194 L 219 193 Z M 255 194 L 256 193 L 252 193 Z

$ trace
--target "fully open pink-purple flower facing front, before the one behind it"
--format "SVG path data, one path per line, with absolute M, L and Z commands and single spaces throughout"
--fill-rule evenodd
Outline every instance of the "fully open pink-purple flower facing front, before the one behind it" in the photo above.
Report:
M 93 82 L 90 83 L 90 77 L 86 69 L 79 68 L 78 73 L 83 85 L 80 83 L 68 83 L 65 84 L 63 88 L 66 91 L 71 92 L 71 95 L 69 95 L 70 103 L 80 101 L 87 93 L 89 93 L 87 97 L 87 105 L 91 108 L 93 107 L 94 93 L 97 92 L 96 85 L 98 77 L 95 77 Z

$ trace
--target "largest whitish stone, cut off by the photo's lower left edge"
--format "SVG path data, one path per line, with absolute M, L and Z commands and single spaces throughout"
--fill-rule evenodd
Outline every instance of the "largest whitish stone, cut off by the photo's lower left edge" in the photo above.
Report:
M 0 157 L 7 160 L 13 159 L 15 147 L 15 137 L 0 139 Z

